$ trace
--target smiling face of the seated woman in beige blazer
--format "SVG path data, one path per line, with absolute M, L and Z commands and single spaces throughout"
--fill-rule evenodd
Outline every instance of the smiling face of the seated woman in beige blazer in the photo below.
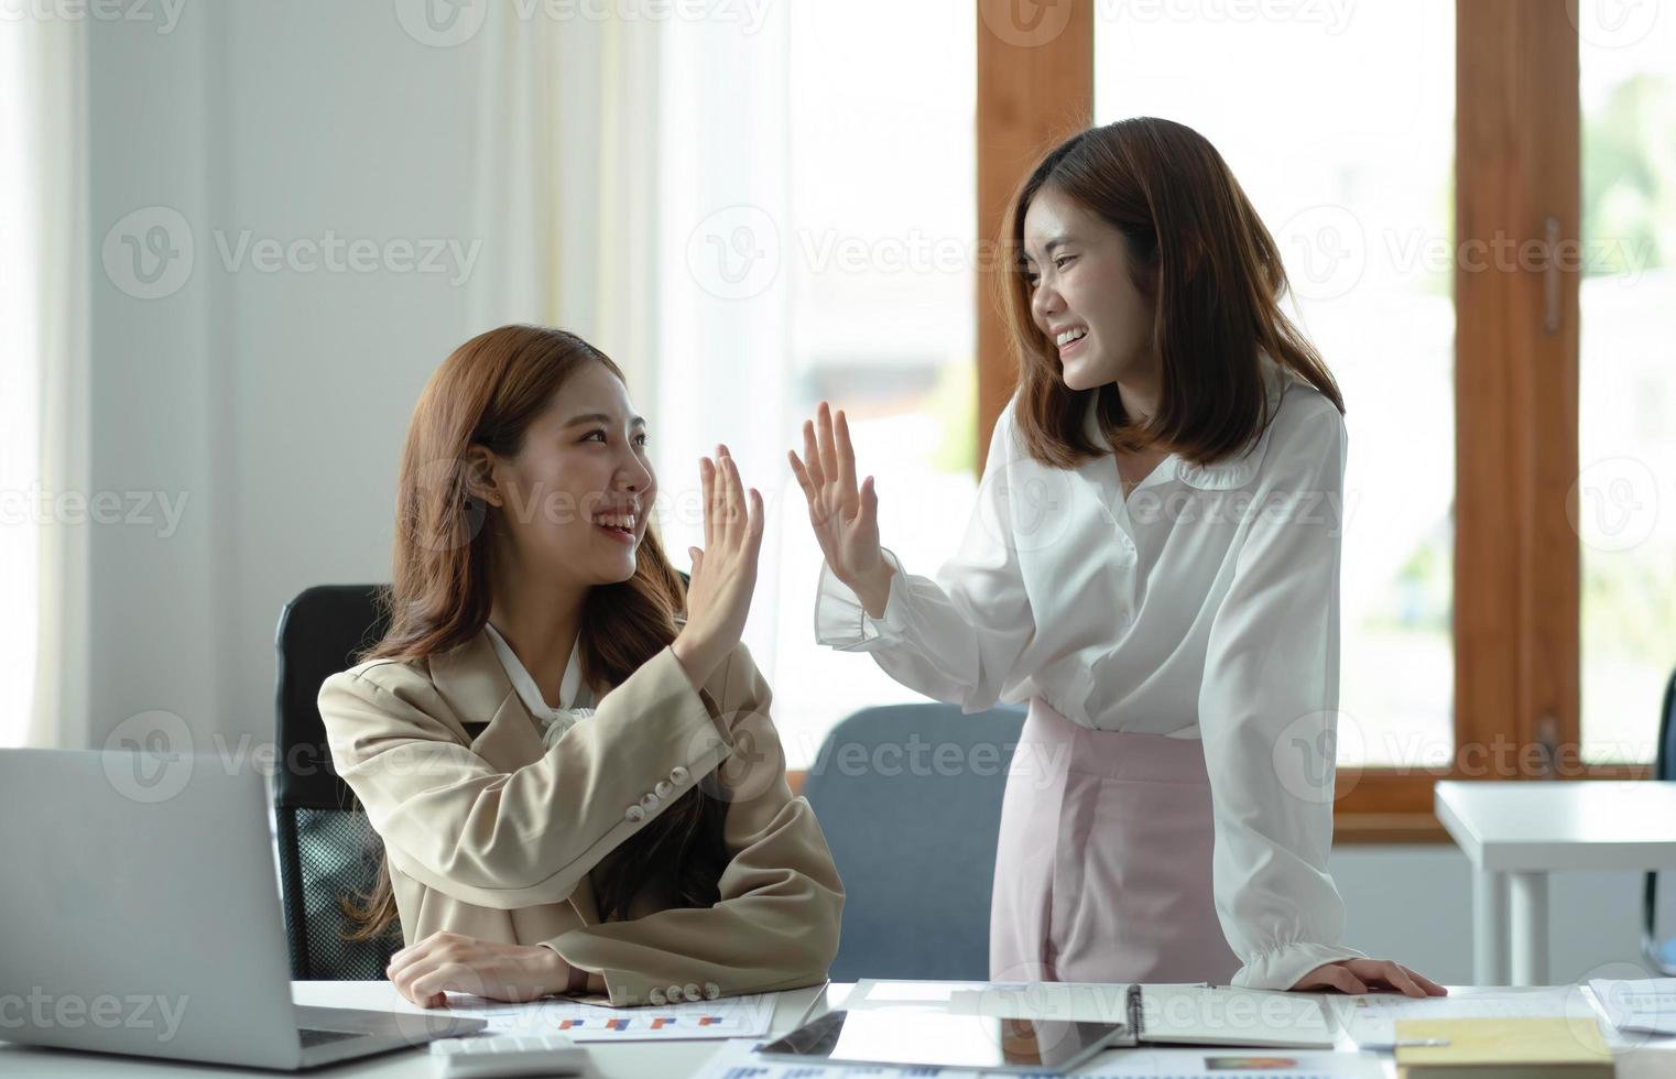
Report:
M 474 452 L 493 461 L 496 541 L 515 566 L 583 588 L 634 576 L 657 479 L 645 421 L 603 364 L 583 362 L 565 379 L 516 456 Z

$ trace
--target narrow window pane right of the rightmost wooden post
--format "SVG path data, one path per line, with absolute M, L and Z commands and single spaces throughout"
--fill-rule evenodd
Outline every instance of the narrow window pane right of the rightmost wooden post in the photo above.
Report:
M 1582 28 L 1582 754 L 1642 764 L 1676 663 L 1676 18 Z

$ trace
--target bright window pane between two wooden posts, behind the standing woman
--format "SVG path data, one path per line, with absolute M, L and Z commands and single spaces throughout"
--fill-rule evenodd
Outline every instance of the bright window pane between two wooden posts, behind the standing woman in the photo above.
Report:
M 1210 139 L 1280 245 L 1289 313 L 1344 390 L 1339 761 L 1446 766 L 1453 5 L 1098 10 L 1094 122 L 1158 116 Z

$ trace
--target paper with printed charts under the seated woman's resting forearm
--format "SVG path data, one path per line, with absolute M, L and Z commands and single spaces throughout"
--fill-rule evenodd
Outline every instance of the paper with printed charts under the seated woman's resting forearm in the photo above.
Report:
M 499 1034 L 563 1034 L 573 1042 L 687 1042 L 763 1037 L 774 1022 L 776 994 L 722 997 L 696 1004 L 613 1009 L 563 997 L 504 1004 L 449 994 L 454 1015 L 483 1019 Z

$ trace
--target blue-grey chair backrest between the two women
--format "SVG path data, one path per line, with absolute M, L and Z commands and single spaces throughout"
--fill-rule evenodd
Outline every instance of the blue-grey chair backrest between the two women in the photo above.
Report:
M 845 883 L 835 982 L 989 978 L 1001 796 L 1022 709 L 865 709 L 821 744 L 803 794 Z

